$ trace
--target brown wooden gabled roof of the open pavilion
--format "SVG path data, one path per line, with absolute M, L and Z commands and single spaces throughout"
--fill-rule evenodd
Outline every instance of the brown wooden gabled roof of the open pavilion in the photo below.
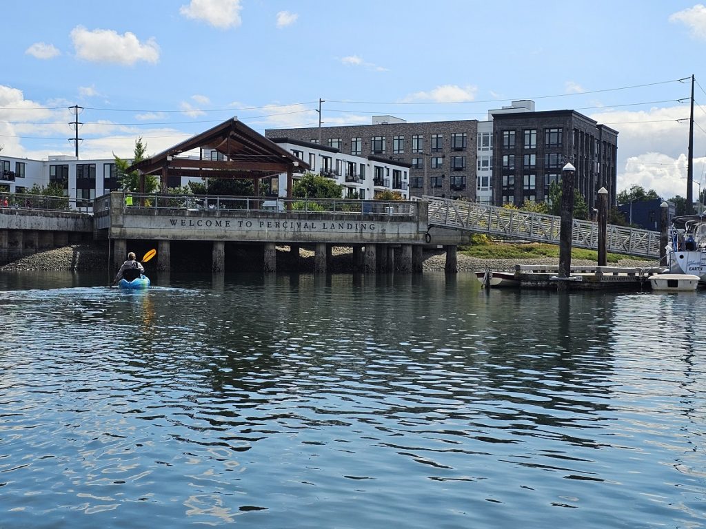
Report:
M 225 159 L 216 161 L 178 156 L 198 148 L 216 150 L 222 153 Z M 161 176 L 164 185 L 167 176 L 256 180 L 306 169 L 309 169 L 309 164 L 234 117 L 159 154 L 132 164 L 128 171 L 137 170 L 141 175 Z

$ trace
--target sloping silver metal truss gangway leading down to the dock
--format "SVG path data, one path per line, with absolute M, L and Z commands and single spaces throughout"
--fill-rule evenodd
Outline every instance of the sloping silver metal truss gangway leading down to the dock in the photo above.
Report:
M 561 217 L 429 195 L 421 200 L 429 202 L 430 226 L 559 244 Z M 607 251 L 611 253 L 659 259 L 658 231 L 609 224 L 606 238 Z M 572 245 L 597 250 L 598 223 L 574 219 Z

